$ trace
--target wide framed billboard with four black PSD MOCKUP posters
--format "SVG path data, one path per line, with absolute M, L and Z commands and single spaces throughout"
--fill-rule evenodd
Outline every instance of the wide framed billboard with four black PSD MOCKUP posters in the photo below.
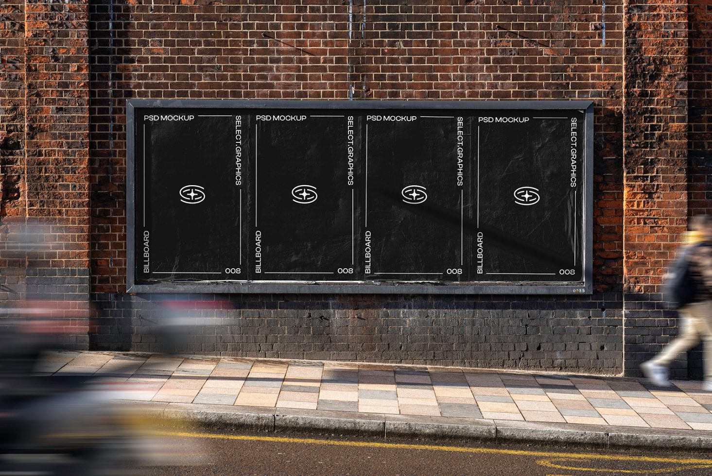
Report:
M 129 106 L 130 289 L 591 290 L 590 102 Z

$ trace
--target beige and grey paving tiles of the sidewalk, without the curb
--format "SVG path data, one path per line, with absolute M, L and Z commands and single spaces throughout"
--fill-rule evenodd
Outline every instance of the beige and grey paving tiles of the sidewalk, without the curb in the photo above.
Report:
M 712 393 L 698 381 L 75 351 L 38 370 L 106 374 L 140 401 L 712 430 Z

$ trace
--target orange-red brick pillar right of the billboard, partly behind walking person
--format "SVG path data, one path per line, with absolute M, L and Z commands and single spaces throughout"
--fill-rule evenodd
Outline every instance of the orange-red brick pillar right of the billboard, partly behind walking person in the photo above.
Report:
M 624 6 L 625 372 L 678 330 L 661 277 L 687 225 L 687 2 Z M 686 376 L 686 361 L 673 376 Z

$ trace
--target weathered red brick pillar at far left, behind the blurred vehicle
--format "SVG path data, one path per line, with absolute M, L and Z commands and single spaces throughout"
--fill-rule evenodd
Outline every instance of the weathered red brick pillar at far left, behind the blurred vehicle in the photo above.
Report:
M 33 244 L 21 260 L 0 266 L 23 274 L 16 286 L 23 295 L 12 299 L 36 300 L 46 314 L 66 318 L 58 321 L 60 343 L 87 348 L 88 0 L 11 1 L 2 8 L 11 10 L 4 21 L 14 22 L 1 34 L 11 41 L 17 71 L 4 75 L 12 88 L 0 93 L 10 116 L 0 131 L 9 149 L 0 162 L 6 169 L 0 223 L 17 231 L 7 218 L 17 217 L 24 231 L 12 239 Z

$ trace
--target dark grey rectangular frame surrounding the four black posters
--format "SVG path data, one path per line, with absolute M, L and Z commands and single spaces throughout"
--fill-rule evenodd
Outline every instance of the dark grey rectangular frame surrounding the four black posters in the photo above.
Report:
M 294 110 L 308 109 L 352 109 L 352 110 L 580 110 L 585 112 L 585 193 L 583 203 L 583 281 L 538 282 L 520 281 L 487 282 L 486 284 L 437 285 L 427 281 L 245 281 L 245 280 L 205 280 L 173 281 L 144 284 L 135 279 L 135 109 L 138 107 L 157 108 L 240 108 L 255 109 L 280 108 Z M 503 101 L 402 101 L 402 100 L 126 100 L 126 287 L 127 292 L 136 293 L 280 293 L 280 294 L 437 294 L 437 295 L 590 295 L 593 292 L 593 110 L 590 100 L 503 100 Z

